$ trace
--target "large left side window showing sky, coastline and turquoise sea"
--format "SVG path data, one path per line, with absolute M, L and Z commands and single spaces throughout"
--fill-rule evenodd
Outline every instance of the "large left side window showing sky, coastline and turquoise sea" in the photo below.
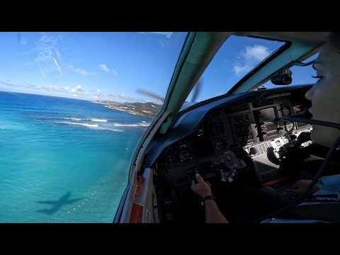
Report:
M 0 33 L 0 222 L 112 222 L 187 33 Z

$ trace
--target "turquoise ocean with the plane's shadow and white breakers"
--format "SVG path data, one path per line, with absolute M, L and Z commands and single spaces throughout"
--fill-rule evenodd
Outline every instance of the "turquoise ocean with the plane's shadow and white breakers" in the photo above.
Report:
M 151 118 L 0 91 L 0 222 L 113 222 Z

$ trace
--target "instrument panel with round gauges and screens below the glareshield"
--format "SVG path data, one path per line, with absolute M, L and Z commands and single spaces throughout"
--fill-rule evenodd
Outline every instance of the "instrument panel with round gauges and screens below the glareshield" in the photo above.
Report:
M 159 174 L 176 187 L 187 184 L 187 170 L 200 164 L 208 162 L 212 167 L 222 163 L 232 171 L 242 171 L 251 159 L 259 181 L 268 181 L 265 176 L 275 177 L 279 158 L 287 151 L 283 147 L 312 128 L 282 119 L 310 107 L 304 95 L 304 90 L 280 91 L 213 108 L 191 135 L 163 150 L 156 162 L 157 168 L 164 170 Z M 235 148 L 242 150 L 242 157 L 234 153 Z

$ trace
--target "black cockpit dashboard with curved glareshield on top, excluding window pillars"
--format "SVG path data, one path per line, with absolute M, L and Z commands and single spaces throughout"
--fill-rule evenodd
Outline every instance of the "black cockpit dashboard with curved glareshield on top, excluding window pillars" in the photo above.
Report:
M 307 157 L 312 126 L 282 117 L 310 107 L 305 99 L 309 88 L 223 98 L 214 102 L 215 106 L 182 113 L 169 133 L 154 137 L 146 160 L 154 174 L 162 221 L 190 221 L 188 210 L 181 205 L 195 200 L 190 186 L 196 171 L 212 187 L 246 181 L 285 191 L 297 175 L 297 171 L 290 171 L 295 158 Z M 200 216 L 204 222 L 204 214 Z

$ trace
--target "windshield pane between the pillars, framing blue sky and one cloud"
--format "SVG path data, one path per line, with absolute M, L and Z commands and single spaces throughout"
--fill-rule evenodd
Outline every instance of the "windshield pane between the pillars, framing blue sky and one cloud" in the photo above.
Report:
M 199 87 L 191 91 L 186 102 L 197 103 L 226 94 L 237 81 L 283 45 L 285 42 L 230 36 L 205 69 L 198 82 Z

